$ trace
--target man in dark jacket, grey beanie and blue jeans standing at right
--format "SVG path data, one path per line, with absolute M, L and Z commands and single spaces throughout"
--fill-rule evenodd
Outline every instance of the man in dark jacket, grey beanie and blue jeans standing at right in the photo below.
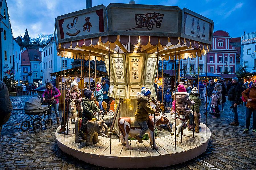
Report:
M 238 81 L 238 78 L 232 78 L 232 86 L 228 91 L 228 100 L 230 101 L 232 111 L 234 113 L 234 121 L 230 123 L 232 126 L 238 126 L 238 113 L 237 113 L 237 105 L 239 103 L 241 97 L 241 88 L 242 84 Z

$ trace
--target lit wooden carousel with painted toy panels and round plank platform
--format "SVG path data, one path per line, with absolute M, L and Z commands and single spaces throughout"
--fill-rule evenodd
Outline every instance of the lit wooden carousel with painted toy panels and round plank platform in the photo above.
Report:
M 151 99 L 154 102 L 155 75 L 157 75 L 158 86 L 159 75 L 162 74 L 163 77 L 163 69 L 158 68 L 159 61 L 172 59 L 175 63 L 179 63 L 181 59 L 192 57 L 198 59 L 198 56 L 206 55 L 211 50 L 212 32 L 212 20 L 186 8 L 181 10 L 179 7 L 172 6 L 111 3 L 108 7 L 98 5 L 58 16 L 55 21 L 55 39 L 59 56 L 105 62 L 110 80 L 108 95 L 116 101 L 115 117 L 110 131 L 113 129 L 118 135 L 121 133 L 116 120 L 122 116 L 134 117 L 137 107 L 136 94 L 142 87 L 151 91 Z M 180 69 L 179 66 L 177 69 L 175 66 L 175 72 L 179 73 Z M 63 72 L 65 73 L 65 70 Z M 61 77 L 65 80 L 65 76 Z M 175 82 L 180 80 L 179 74 L 178 77 L 174 77 Z M 155 124 L 156 115 L 152 116 Z M 174 119 L 169 121 L 176 122 Z M 194 131 L 190 134 L 194 137 Z M 178 146 L 176 147 L 176 131 L 174 137 L 169 135 L 172 142 L 169 139 L 161 142 L 161 151 L 156 151 L 155 145 L 158 142 L 154 138 L 150 143 L 144 141 L 146 148 L 143 146 L 141 149 L 147 150 L 148 154 L 138 158 L 135 155 L 140 155 L 140 151 L 136 142 L 131 145 L 137 150 L 125 152 L 127 148 L 117 141 L 112 141 L 110 135 L 107 143 L 101 143 L 105 141 L 101 139 L 99 145 L 96 145 L 98 149 L 93 155 L 96 155 L 100 161 L 92 159 L 93 156 L 90 153 L 94 151 L 89 154 L 86 151 L 80 153 L 77 149 L 73 150 L 65 145 L 65 139 L 61 135 L 56 135 L 56 138 L 61 150 L 77 158 L 83 154 L 83 158 L 79 159 L 86 162 L 105 167 L 116 167 L 118 164 L 119 168 L 141 168 L 168 166 L 203 153 L 210 139 L 210 130 L 203 125 L 198 135 L 205 135 L 206 140 L 201 141 L 199 146 L 195 146 L 196 149 L 188 149 L 189 152 L 186 149 L 181 151 Z M 182 136 L 180 142 L 182 142 Z M 112 145 L 121 150 L 113 151 Z M 126 142 L 126 145 L 130 144 Z M 164 150 L 168 152 L 163 153 Z M 116 154 L 116 152 L 119 153 Z M 189 154 L 185 159 L 168 161 L 172 153 L 175 153 L 177 158 L 181 158 L 181 152 Z M 148 155 L 154 155 L 154 161 L 149 161 Z M 160 165 L 156 165 L 156 162 Z

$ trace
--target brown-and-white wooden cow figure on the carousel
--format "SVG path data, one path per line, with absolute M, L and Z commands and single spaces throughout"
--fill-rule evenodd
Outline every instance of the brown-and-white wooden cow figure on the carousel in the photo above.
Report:
M 155 116 L 155 124 L 154 124 L 154 116 L 149 116 L 147 120 L 148 124 L 148 137 L 150 139 L 150 144 L 153 145 L 153 138 L 154 138 L 154 128 L 162 124 L 169 124 L 169 120 L 166 118 L 167 116 Z M 128 150 L 132 150 L 133 148 L 129 145 L 128 136 L 135 137 L 140 134 L 141 127 L 137 123 L 134 117 L 120 117 L 118 119 L 118 127 L 120 129 L 120 139 L 122 145 L 126 145 Z M 158 149 L 156 143 L 154 143 L 154 148 Z

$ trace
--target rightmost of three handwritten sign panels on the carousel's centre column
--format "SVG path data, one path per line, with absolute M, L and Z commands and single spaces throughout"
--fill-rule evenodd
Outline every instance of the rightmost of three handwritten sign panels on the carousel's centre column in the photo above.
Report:
M 146 61 L 146 77 L 145 77 L 145 82 L 150 83 L 152 82 L 153 78 L 155 78 L 154 70 L 156 67 L 156 58 L 153 57 L 148 57 Z

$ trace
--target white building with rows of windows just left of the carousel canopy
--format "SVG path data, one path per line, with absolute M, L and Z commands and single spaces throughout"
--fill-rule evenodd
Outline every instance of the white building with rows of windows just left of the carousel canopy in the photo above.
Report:
M 52 40 L 47 44 L 42 52 L 41 52 L 41 57 L 42 57 L 42 63 L 40 64 L 41 70 L 43 70 L 42 74 L 42 84 L 45 84 L 51 80 L 53 80 L 53 77 L 50 76 L 50 73 L 55 73 L 58 71 L 63 70 L 63 66 L 65 66 L 66 69 L 71 69 L 72 65 L 71 63 L 73 62 L 74 59 L 67 59 L 65 58 L 65 65 L 64 65 L 64 60 L 60 56 L 57 56 L 57 50 L 56 50 L 56 45 L 55 45 L 55 40 L 52 38 Z M 62 62 L 62 64 L 61 64 Z

